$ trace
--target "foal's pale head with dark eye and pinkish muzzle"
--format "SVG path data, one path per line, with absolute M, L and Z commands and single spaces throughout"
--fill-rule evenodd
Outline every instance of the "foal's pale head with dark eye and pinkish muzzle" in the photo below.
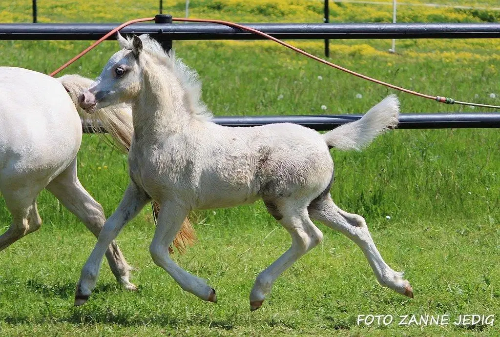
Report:
M 144 35 L 144 38 L 147 38 Z M 143 40 L 133 35 L 131 40 L 118 34 L 121 50 L 114 53 L 92 85 L 83 90 L 78 103 L 86 112 L 133 99 L 140 88 Z

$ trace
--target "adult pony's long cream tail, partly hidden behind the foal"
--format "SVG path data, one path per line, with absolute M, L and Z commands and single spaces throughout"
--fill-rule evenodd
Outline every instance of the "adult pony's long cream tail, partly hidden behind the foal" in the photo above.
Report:
M 122 104 L 119 106 L 108 106 L 92 114 L 88 114 L 79 107 L 78 96 L 83 89 L 88 88 L 92 84 L 93 80 L 76 74 L 63 75 L 56 79 L 68 92 L 84 125 L 88 125 L 92 131 L 102 135 L 108 144 L 115 147 L 120 152 L 125 154 L 128 153 L 133 134 L 132 109 L 128 105 Z M 107 137 L 103 132 L 107 132 L 110 137 Z M 155 218 L 158 212 L 159 205 L 154 201 L 153 216 Z M 173 240 L 173 246 L 175 246 L 180 253 L 183 253 L 185 248 L 193 245 L 195 241 L 196 235 L 194 228 L 189 222 L 189 219 L 186 218 Z M 169 247 L 168 250 L 173 252 L 171 247 Z

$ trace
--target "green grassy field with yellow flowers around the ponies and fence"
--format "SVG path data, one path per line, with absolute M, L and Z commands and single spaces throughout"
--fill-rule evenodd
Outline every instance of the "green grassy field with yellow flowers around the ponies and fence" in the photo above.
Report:
M 28 21 L 28 2 L 0 3 L 0 21 Z M 39 1 L 39 5 L 53 5 L 50 12 L 40 11 L 42 20 L 70 22 L 149 16 L 157 4 L 129 1 L 119 11 L 118 2 Z M 284 1 L 274 2 L 284 5 Z M 171 12 L 181 14 L 181 3 L 171 1 Z M 249 1 L 246 6 L 229 0 L 203 3 L 207 6 L 193 7 L 193 16 L 313 21 L 309 14 L 276 17 L 254 12 Z M 214 3 L 223 8 L 216 9 Z M 298 7 L 308 4 L 321 5 L 320 1 L 293 1 Z M 104 11 L 105 5 L 112 10 Z M 85 10 L 76 13 L 79 6 Z M 370 7 L 359 8 L 367 11 L 366 17 L 371 15 Z M 349 15 L 337 18 L 349 20 Z M 425 93 L 500 104 L 498 40 L 399 40 L 398 54 L 386 52 L 388 40 L 332 41 L 331 59 Z M 322 53 L 320 41 L 293 43 Z M 50 72 L 88 44 L 0 41 L 0 65 Z M 270 42 L 174 45 L 177 55 L 200 73 L 203 99 L 216 115 L 362 113 L 391 92 Z M 115 50 L 116 43 L 104 43 L 67 72 L 96 76 Z M 439 105 L 405 94 L 399 98 L 403 113 L 487 111 Z M 90 301 L 74 308 L 75 283 L 95 240 L 43 192 L 38 198 L 41 229 L 0 253 L 0 335 L 499 336 L 498 130 L 395 130 L 363 152 L 331 153 L 336 165 L 333 200 L 366 218 L 386 262 L 395 270 L 405 270 L 414 300 L 380 287 L 360 250 L 319 225 L 323 242 L 285 272 L 264 306 L 250 313 L 248 294 L 256 275 L 289 246 L 288 234 L 257 202 L 193 213 L 198 243 L 184 255 L 174 255 L 180 266 L 208 279 L 217 291 L 216 305 L 183 292 L 152 263 L 147 248 L 154 224 L 150 209 L 145 208 L 118 237 L 123 254 L 137 268 L 133 282 L 139 292 L 121 290 L 104 265 Z M 126 157 L 96 135 L 86 135 L 78 160 L 82 184 L 110 215 L 127 184 Z M 9 222 L 0 198 L 0 231 Z M 357 325 L 357 316 L 368 314 L 393 315 L 395 322 Z M 492 326 L 397 325 L 399 315 L 411 314 L 448 314 L 451 322 L 460 314 L 496 317 Z

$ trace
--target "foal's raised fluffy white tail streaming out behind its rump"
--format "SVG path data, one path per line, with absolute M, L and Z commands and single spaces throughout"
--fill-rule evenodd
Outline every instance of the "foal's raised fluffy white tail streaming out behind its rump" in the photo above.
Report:
M 340 125 L 323 134 L 329 147 L 339 150 L 361 150 L 379 134 L 397 126 L 399 101 L 396 95 L 385 97 L 360 119 Z

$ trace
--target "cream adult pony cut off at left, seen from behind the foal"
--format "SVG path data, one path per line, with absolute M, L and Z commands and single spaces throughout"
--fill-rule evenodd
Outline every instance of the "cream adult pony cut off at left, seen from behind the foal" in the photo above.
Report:
M 77 97 L 90 83 L 79 75 L 54 79 L 23 68 L 0 67 L 0 192 L 12 214 L 10 227 L 0 236 L 0 251 L 40 227 L 36 198 L 44 188 L 99 235 L 104 212 L 76 175 L 82 134 Z M 103 127 L 119 149 L 128 151 L 133 131 L 129 107 L 107 107 L 92 118 L 84 115 L 92 127 Z M 190 238 L 188 223 L 183 230 L 181 234 Z M 127 290 L 136 290 L 129 281 L 131 267 L 114 241 L 106 258 L 116 280 Z

